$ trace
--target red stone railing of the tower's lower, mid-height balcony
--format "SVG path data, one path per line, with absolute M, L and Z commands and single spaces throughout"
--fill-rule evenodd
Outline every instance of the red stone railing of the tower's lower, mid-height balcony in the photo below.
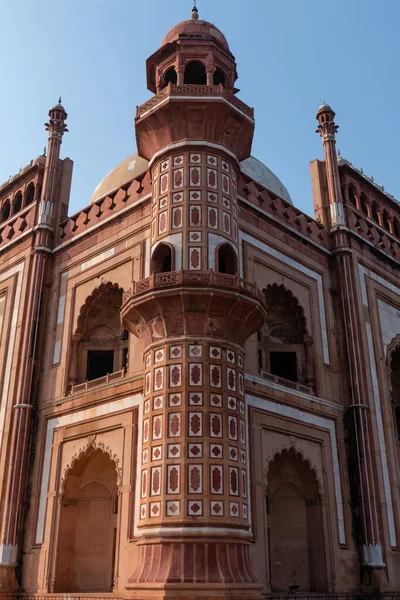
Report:
M 151 290 L 166 287 L 189 286 L 218 286 L 245 292 L 263 301 L 263 295 L 255 283 L 250 283 L 239 275 L 216 273 L 215 271 L 171 271 L 169 273 L 153 273 L 150 277 L 133 283 L 125 292 L 124 302 L 134 296 L 145 294 Z

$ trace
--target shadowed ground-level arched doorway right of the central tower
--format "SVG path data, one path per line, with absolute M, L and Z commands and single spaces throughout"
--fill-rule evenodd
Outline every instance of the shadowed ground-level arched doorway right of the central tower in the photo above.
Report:
M 270 463 L 267 478 L 272 591 L 326 590 L 322 506 L 313 471 L 293 449 L 284 450 Z

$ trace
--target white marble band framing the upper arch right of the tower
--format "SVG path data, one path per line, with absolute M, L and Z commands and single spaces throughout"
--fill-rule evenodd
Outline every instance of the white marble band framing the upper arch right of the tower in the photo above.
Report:
M 290 267 L 293 267 L 293 269 L 300 271 L 304 275 L 307 275 L 307 277 L 310 277 L 311 279 L 314 279 L 314 281 L 316 281 L 317 289 L 318 289 L 318 305 L 319 305 L 319 315 L 320 315 L 320 323 L 321 323 L 321 336 L 322 336 L 322 349 L 323 349 L 323 355 L 324 355 L 324 363 L 326 365 L 329 365 L 330 358 L 329 358 L 329 346 L 328 346 L 328 331 L 327 331 L 327 324 L 326 324 L 325 298 L 324 298 L 324 288 L 323 288 L 322 276 L 319 273 L 312 271 L 312 269 L 309 269 L 305 265 L 297 262 L 293 258 L 290 258 L 286 254 L 283 254 L 283 252 L 280 252 L 279 250 L 276 250 L 275 248 L 271 248 L 271 246 L 264 244 L 263 242 L 254 238 L 252 235 L 249 235 L 248 233 L 244 233 L 243 231 L 240 231 L 239 232 L 239 240 L 240 240 L 240 275 L 241 275 L 241 277 L 243 277 L 242 243 L 247 242 L 248 244 L 254 246 L 255 248 L 260 249 L 262 252 L 265 252 L 266 254 L 269 254 L 270 256 L 277 258 L 278 260 L 289 265 Z

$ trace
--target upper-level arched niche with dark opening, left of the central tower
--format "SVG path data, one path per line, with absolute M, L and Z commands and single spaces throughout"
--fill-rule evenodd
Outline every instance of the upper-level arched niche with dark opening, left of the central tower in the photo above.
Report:
M 127 369 L 129 334 L 121 324 L 122 300 L 122 288 L 112 283 L 86 298 L 72 339 L 70 385 Z

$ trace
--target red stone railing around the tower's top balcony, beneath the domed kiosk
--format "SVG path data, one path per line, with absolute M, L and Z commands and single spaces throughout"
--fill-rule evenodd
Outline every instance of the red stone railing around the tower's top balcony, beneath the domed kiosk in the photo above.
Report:
M 182 97 L 182 96 L 195 96 L 196 98 L 203 97 L 219 97 L 230 104 L 236 109 L 240 110 L 250 119 L 254 119 L 254 109 L 247 106 L 244 102 L 239 100 L 232 92 L 224 88 L 222 83 L 219 85 L 196 85 L 196 84 L 184 84 L 174 85 L 169 83 L 161 92 L 158 92 L 155 96 L 147 100 L 141 106 L 136 109 L 136 119 L 140 119 L 149 110 L 152 110 L 168 98 Z

